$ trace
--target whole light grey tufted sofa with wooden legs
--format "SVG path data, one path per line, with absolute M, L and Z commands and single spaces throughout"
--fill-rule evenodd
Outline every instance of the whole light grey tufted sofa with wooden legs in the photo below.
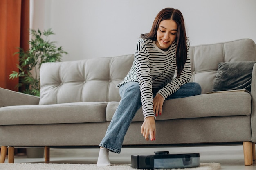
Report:
M 202 94 L 166 100 L 156 118 L 155 141 L 141 135 L 144 117 L 136 113 L 124 147 L 243 145 L 245 165 L 255 160 L 256 65 L 247 90 L 213 91 L 220 63 L 256 61 L 251 39 L 191 46 L 191 81 Z M 121 99 L 116 85 L 123 80 L 134 56 L 102 57 L 43 63 L 40 98 L 0 88 L 0 162 L 14 162 L 16 147 L 97 148 Z M 238 67 L 240 68 L 240 67 Z M 243 79 L 243 78 L 242 78 Z

